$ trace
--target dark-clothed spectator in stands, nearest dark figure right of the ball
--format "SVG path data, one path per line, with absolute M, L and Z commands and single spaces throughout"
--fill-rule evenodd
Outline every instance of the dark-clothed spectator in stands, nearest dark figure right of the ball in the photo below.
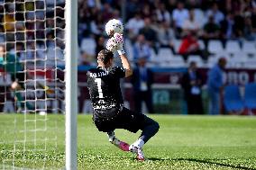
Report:
M 145 18 L 144 19 L 144 27 L 139 31 L 140 34 L 144 35 L 145 40 L 147 43 L 151 46 L 152 49 L 155 50 L 156 53 L 158 53 L 158 40 L 157 40 L 157 34 L 156 31 L 154 31 L 151 27 L 151 19 Z

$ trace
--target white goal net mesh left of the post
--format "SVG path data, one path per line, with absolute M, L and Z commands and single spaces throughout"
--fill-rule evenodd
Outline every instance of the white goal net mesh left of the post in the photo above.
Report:
M 0 0 L 0 169 L 64 166 L 64 11 Z

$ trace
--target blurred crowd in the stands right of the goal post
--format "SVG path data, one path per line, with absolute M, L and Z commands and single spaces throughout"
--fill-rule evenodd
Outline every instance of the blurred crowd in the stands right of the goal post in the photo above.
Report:
M 166 48 L 185 60 L 189 55 L 198 55 L 206 60 L 211 55 L 211 51 L 207 50 L 209 40 L 219 40 L 223 48 L 228 40 L 237 40 L 240 46 L 243 41 L 256 40 L 255 0 L 122 2 L 79 1 L 80 46 L 85 38 L 95 39 L 96 46 L 99 38 L 107 39 L 105 22 L 112 18 L 123 19 L 125 38 L 132 45 L 130 50 L 136 55 L 131 58 L 135 59 L 138 54 L 148 55 L 149 48 L 153 49 L 151 56 L 158 55 L 160 49 Z M 135 53 L 141 43 L 142 51 Z M 84 55 L 81 62 L 87 64 L 87 58 Z

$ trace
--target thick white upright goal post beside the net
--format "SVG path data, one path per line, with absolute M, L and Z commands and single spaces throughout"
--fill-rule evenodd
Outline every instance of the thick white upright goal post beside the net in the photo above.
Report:
M 78 0 L 66 0 L 66 169 L 77 169 Z

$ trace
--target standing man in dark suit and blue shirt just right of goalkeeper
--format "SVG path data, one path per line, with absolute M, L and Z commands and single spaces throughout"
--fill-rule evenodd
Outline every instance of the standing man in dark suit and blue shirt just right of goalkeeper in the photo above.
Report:
M 146 67 L 147 58 L 138 58 L 133 70 L 133 97 L 135 112 L 142 112 L 142 102 L 146 103 L 148 112 L 153 113 L 151 102 L 151 72 Z

